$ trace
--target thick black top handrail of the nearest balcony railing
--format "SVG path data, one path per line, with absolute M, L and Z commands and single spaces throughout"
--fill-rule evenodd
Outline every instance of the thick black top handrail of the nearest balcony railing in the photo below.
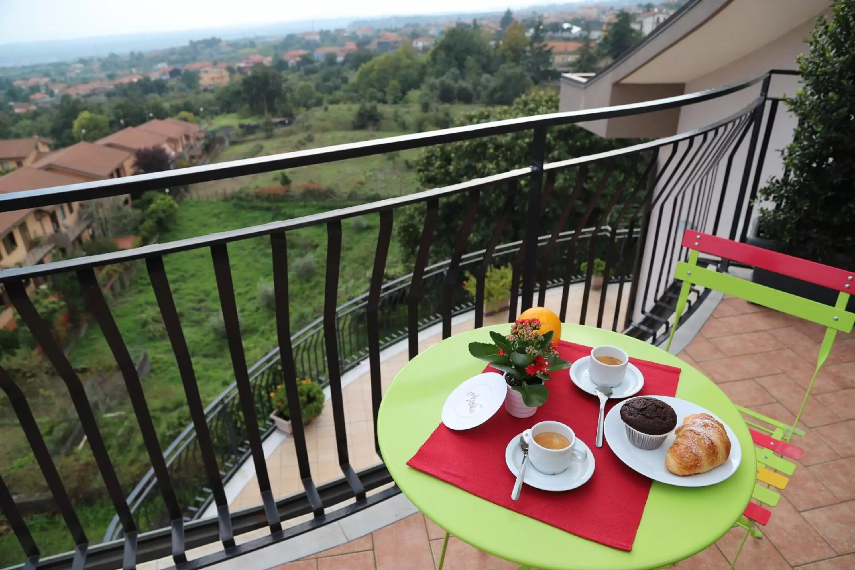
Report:
M 9 192 L 0 194 L 0 212 L 38 208 L 57 202 L 80 202 L 96 198 L 120 196 L 151 188 L 198 184 L 211 180 L 266 173 L 274 170 L 285 170 L 286 168 L 304 167 L 323 162 L 336 162 L 350 158 L 383 154 L 393 150 L 410 150 L 432 146 L 433 144 L 467 140 L 469 138 L 481 138 L 525 131 L 534 128 L 534 126 L 570 125 L 592 120 L 616 119 L 619 117 L 675 109 L 694 103 L 703 103 L 717 97 L 724 97 L 736 91 L 742 91 L 752 85 L 757 85 L 772 73 L 774 72 L 769 71 L 753 79 L 738 81 L 723 87 L 716 87 L 715 89 L 705 89 L 703 91 L 695 91 L 693 93 L 677 95 L 675 97 L 664 97 L 641 103 L 628 103 L 626 105 L 599 107 L 597 109 L 581 109 L 579 111 L 565 111 L 563 113 L 530 115 L 516 119 L 494 120 L 475 125 L 453 126 L 439 131 L 415 132 L 399 135 L 398 137 L 337 144 L 318 149 L 296 150 L 279 155 L 257 156 L 238 161 L 215 162 L 213 164 L 186 167 L 177 170 L 136 174 L 124 178 L 95 180 L 80 184 L 51 186 L 50 188 L 40 188 L 38 190 Z

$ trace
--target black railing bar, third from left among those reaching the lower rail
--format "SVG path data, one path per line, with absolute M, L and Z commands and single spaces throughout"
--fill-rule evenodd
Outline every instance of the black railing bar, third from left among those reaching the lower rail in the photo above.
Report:
M 202 462 L 205 474 L 208 477 L 208 485 L 214 495 L 217 509 L 217 521 L 220 527 L 220 541 L 225 548 L 234 546 L 234 535 L 232 532 L 232 519 L 228 513 L 228 502 L 226 492 L 222 487 L 220 467 L 217 465 L 214 444 L 211 441 L 208 421 L 205 418 L 205 410 L 202 405 L 202 397 L 199 395 L 196 373 L 193 371 L 193 362 L 184 331 L 178 317 L 178 309 L 172 291 L 169 288 L 169 280 L 166 267 L 163 267 L 163 258 L 160 256 L 147 257 L 145 267 L 149 273 L 151 289 L 155 292 L 157 306 L 160 309 L 163 325 L 166 328 L 169 344 L 172 346 L 175 361 L 178 364 L 178 372 L 181 384 L 184 385 L 184 394 L 187 398 L 187 408 L 190 409 L 190 418 L 193 427 L 196 428 L 196 440 L 199 450 L 202 452 Z

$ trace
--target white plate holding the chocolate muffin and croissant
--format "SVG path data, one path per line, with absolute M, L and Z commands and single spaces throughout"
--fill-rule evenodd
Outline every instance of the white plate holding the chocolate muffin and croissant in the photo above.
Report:
M 689 414 L 710 414 L 716 420 L 721 421 L 725 431 L 728 432 L 728 438 L 730 438 L 730 456 L 728 457 L 728 461 L 706 473 L 697 473 L 682 477 L 671 473 L 665 468 L 665 455 L 668 455 L 668 448 L 674 443 L 676 437 L 674 432 L 671 432 L 668 438 L 665 439 L 665 443 L 656 450 L 640 450 L 629 443 L 626 428 L 624 427 L 623 420 L 621 420 L 621 408 L 631 400 L 624 400 L 622 403 L 616 404 L 614 408 L 611 408 L 609 414 L 605 416 L 605 439 L 609 442 L 611 450 L 621 461 L 626 463 L 628 467 L 654 481 L 678 487 L 716 485 L 716 483 L 721 483 L 724 479 L 728 479 L 728 477 L 736 473 L 736 469 L 740 467 L 740 462 L 742 461 L 742 448 L 740 440 L 736 438 L 736 434 L 730 429 L 730 426 L 724 423 L 716 414 L 713 414 L 708 409 L 701 408 L 696 403 L 667 396 L 653 397 L 662 400 L 671 408 L 674 408 L 677 414 L 678 427 L 682 425 L 683 419 Z

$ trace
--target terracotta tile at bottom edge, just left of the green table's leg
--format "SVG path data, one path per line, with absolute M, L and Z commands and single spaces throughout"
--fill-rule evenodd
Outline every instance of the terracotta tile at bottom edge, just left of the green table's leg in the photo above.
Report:
M 374 532 L 377 570 L 433 570 L 428 530 L 421 513 Z

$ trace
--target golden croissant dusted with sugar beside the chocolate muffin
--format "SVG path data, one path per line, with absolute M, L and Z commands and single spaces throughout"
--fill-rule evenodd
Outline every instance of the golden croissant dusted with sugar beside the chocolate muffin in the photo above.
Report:
M 675 435 L 665 455 L 665 468 L 675 475 L 706 473 L 728 461 L 728 432 L 710 414 L 687 415 Z

